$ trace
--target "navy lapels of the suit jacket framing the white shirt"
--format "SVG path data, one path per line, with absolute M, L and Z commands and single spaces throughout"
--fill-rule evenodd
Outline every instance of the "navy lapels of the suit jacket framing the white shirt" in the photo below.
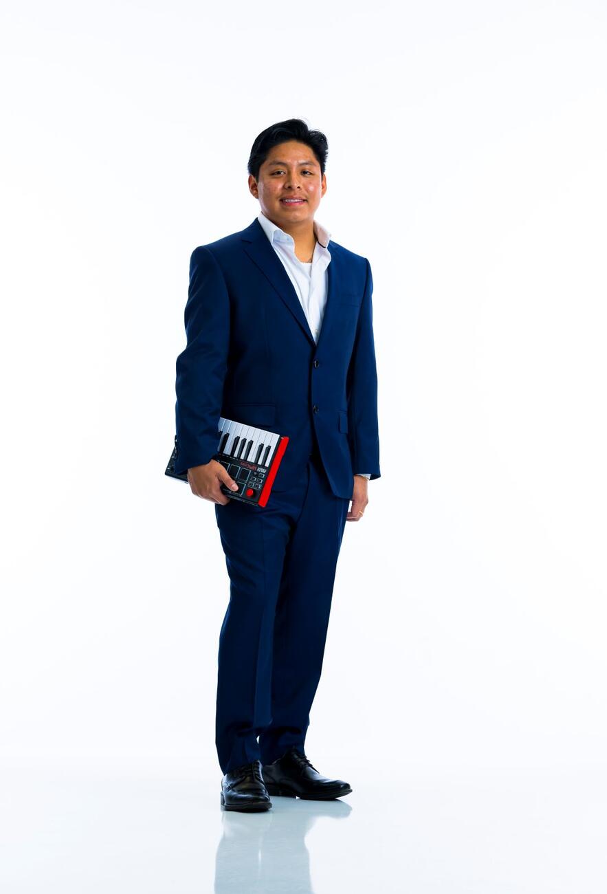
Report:
M 282 266 L 282 261 L 279 257 L 277 257 L 276 252 L 270 245 L 270 241 L 268 240 L 266 233 L 264 232 L 261 223 L 257 220 L 257 217 L 250 223 L 249 226 L 242 231 L 240 236 L 243 248 L 251 258 L 251 260 L 257 264 L 261 272 L 266 276 L 267 280 L 274 287 L 274 291 L 278 293 L 281 299 L 284 301 L 286 306 L 291 310 L 291 314 L 295 317 L 303 331 L 308 336 L 308 339 L 312 344 L 316 347 L 316 342 L 314 341 L 314 335 L 310 331 L 310 327 L 308 326 L 308 320 L 306 319 L 306 315 L 304 314 L 303 308 L 301 307 L 301 302 L 299 301 L 299 296 L 295 289 L 293 288 L 293 283 L 291 283 L 291 279 L 289 274 Z M 329 251 L 331 251 L 331 242 L 329 242 Z M 323 333 L 325 332 L 325 327 L 329 323 L 329 317 L 331 314 L 332 307 L 332 295 L 334 291 L 334 277 L 335 270 L 332 270 L 332 267 L 335 263 L 335 255 L 337 253 L 334 252 L 331 255 L 331 262 L 327 267 L 328 271 L 328 290 L 326 296 L 326 304 L 325 304 L 325 315 L 323 316 L 323 325 L 321 326 L 320 338 L 322 338 Z M 320 340 L 320 339 L 319 339 Z

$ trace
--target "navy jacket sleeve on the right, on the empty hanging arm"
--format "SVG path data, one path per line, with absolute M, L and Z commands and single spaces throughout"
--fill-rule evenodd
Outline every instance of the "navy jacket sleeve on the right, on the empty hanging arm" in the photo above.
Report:
M 367 258 L 367 283 L 348 368 L 348 438 L 352 468 L 367 468 L 370 479 L 381 477 L 377 420 L 377 370 L 373 338 L 373 275 Z

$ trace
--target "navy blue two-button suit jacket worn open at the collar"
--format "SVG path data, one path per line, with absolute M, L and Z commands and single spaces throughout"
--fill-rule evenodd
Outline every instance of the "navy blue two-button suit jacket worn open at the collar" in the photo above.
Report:
M 333 240 L 329 249 L 317 343 L 257 218 L 194 249 L 176 361 L 178 474 L 213 458 L 225 417 L 289 436 L 274 491 L 296 484 L 315 437 L 336 496 L 351 498 L 353 469 L 380 477 L 371 266 Z

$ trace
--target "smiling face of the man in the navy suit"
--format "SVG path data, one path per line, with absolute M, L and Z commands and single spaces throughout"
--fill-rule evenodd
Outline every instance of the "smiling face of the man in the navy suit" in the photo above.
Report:
M 325 195 L 326 178 L 325 174 L 321 177 L 312 149 L 290 139 L 270 149 L 257 181 L 249 174 L 249 190 L 266 217 L 284 228 L 290 223 L 311 223 Z M 286 201 L 289 198 L 298 201 Z

